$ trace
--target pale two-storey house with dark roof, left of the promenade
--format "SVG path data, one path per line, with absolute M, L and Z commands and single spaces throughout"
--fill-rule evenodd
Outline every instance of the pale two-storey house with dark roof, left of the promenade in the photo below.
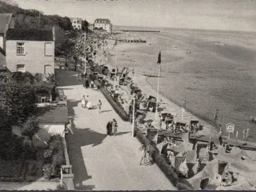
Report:
M 6 68 L 11 72 L 54 74 L 55 31 L 9 29 L 6 32 Z

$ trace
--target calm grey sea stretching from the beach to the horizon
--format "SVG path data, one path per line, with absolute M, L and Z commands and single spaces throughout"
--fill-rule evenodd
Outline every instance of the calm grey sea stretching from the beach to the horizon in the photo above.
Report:
M 256 139 L 256 123 L 250 121 L 256 117 L 256 32 L 137 26 L 113 29 L 160 31 L 125 32 L 126 37 L 147 42 L 119 45 L 118 66 L 157 77 L 161 50 L 161 95 L 210 124 L 215 124 L 218 110 L 217 123 L 224 132 L 226 124 L 233 123 L 231 137 L 238 131 L 238 139 L 242 139 L 242 131 L 250 129 L 247 140 Z M 156 89 L 157 78 L 148 77 L 147 82 Z

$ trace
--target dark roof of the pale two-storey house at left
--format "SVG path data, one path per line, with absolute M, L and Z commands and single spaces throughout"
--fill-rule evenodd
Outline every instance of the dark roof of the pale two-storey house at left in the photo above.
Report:
M 6 40 L 53 41 L 53 31 L 36 28 L 14 28 L 6 32 Z

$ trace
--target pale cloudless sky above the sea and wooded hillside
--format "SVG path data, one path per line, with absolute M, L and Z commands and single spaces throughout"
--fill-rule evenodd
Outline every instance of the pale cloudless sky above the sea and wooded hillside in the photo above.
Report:
M 114 26 L 256 31 L 256 0 L 13 0 L 23 9 Z

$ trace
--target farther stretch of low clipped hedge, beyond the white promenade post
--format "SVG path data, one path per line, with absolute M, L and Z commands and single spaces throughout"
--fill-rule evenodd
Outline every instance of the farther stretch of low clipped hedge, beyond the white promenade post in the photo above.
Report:
M 110 102 L 110 105 L 113 107 L 114 111 L 119 114 L 119 116 L 125 121 L 129 121 L 129 115 L 127 112 L 125 112 L 117 102 L 114 101 L 114 98 L 110 95 L 110 93 L 107 91 L 106 87 L 102 87 L 100 85 L 100 82 L 98 80 L 94 80 L 95 85 L 98 87 L 100 86 L 100 91 L 105 96 L 108 102 Z

